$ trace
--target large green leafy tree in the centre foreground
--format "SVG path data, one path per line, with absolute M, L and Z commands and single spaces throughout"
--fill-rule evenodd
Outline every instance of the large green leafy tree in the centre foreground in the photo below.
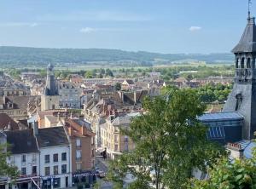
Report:
M 122 182 L 127 173 L 137 179 L 133 188 L 186 188 L 192 169 L 206 170 L 224 154 L 207 140 L 207 128 L 197 117 L 206 106 L 192 89 L 173 90 L 166 96 L 147 97 L 146 114 L 136 117 L 123 130 L 135 143 L 132 152 L 114 160 L 109 179 Z

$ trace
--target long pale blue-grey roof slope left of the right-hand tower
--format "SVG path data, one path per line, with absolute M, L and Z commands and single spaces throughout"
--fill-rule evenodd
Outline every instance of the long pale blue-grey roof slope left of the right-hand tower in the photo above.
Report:
M 238 112 L 217 112 L 217 113 L 206 113 L 198 119 L 204 121 L 216 121 L 216 120 L 243 120 L 244 117 Z

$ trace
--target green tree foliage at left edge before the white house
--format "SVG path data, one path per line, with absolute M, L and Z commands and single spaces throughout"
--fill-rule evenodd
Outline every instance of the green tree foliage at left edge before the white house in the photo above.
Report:
M 18 175 L 18 170 L 15 166 L 7 163 L 10 153 L 6 151 L 6 145 L 0 145 L 0 178 L 1 176 L 8 176 L 11 179 L 15 179 Z

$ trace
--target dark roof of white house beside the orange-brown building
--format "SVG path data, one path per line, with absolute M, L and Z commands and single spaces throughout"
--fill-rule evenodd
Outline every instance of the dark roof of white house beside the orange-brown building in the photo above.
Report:
M 39 147 L 67 146 L 69 144 L 64 127 L 38 129 L 37 138 Z

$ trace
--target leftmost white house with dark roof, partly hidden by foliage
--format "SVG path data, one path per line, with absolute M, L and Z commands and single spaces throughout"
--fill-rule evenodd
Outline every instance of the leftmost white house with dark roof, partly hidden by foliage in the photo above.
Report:
M 5 131 L 4 134 L 11 152 L 7 161 L 20 171 L 15 185 L 12 186 L 9 180 L 5 184 L 6 188 L 36 188 L 36 185 L 40 184 L 39 149 L 32 129 Z

